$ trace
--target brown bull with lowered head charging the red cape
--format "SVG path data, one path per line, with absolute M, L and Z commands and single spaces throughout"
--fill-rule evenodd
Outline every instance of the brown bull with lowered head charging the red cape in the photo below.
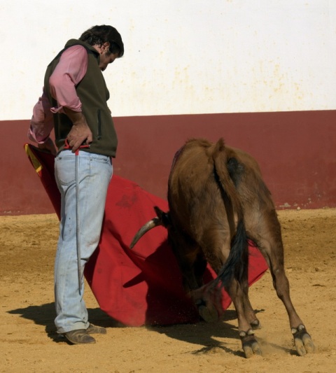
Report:
M 167 213 L 155 206 L 157 217 L 139 230 L 131 247 L 152 227 L 165 226 L 183 274 L 183 286 L 204 320 L 214 318 L 216 308 L 211 305 L 210 295 L 218 283 L 227 290 L 237 311 L 239 336 L 248 358 L 261 353 L 253 333 L 260 323 L 248 300 L 247 241 L 251 239 L 267 261 L 276 294 L 286 307 L 297 353 L 303 356 L 314 351 L 290 300 L 281 227 L 253 157 L 225 146 L 223 139 L 217 143 L 187 141 L 174 157 L 168 202 Z M 203 286 L 207 262 L 218 277 Z

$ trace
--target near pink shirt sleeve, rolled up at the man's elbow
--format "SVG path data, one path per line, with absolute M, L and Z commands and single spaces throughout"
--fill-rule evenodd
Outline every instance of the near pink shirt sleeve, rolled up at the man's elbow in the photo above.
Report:
M 62 113 L 63 106 L 81 111 L 76 85 L 84 78 L 86 71 L 87 51 L 83 45 L 73 45 L 64 50 L 49 78 L 50 94 L 57 101 L 57 106 L 51 108 L 52 113 Z

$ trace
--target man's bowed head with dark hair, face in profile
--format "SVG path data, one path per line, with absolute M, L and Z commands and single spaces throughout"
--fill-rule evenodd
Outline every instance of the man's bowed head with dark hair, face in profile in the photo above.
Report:
M 124 43 L 119 32 L 112 26 L 102 24 L 84 31 L 80 41 L 92 45 L 100 54 L 99 67 L 104 71 L 116 58 L 123 57 Z

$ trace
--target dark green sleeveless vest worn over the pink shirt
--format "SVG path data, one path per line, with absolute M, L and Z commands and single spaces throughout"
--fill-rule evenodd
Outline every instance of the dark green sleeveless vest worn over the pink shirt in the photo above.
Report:
M 118 139 L 111 117 L 111 111 L 106 104 L 110 94 L 106 87 L 102 71 L 99 69 L 99 52 L 97 52 L 92 45 L 76 39 L 69 40 L 65 48 L 50 62 L 45 71 L 45 92 L 48 94 L 51 106 L 57 106 L 57 101 L 53 99 L 50 94 L 49 78 L 52 71 L 55 70 L 62 52 L 72 45 L 78 44 L 83 45 L 87 50 L 87 72 L 80 83 L 76 85 L 76 92 L 82 103 L 82 112 L 87 120 L 87 125 L 91 129 L 93 137 L 90 148 L 83 148 L 83 150 L 90 153 L 116 157 Z M 69 117 L 63 113 L 54 114 L 53 120 L 55 143 L 60 151 L 63 150 L 64 141 L 73 124 Z

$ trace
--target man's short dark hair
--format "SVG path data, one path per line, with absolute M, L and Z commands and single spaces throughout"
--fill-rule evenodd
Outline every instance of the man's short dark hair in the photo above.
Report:
M 118 57 L 124 55 L 124 43 L 119 32 L 112 26 L 102 24 L 93 26 L 83 32 L 79 38 L 80 41 L 90 45 L 102 45 L 108 41 L 110 43 L 109 51 L 113 54 L 118 53 Z

